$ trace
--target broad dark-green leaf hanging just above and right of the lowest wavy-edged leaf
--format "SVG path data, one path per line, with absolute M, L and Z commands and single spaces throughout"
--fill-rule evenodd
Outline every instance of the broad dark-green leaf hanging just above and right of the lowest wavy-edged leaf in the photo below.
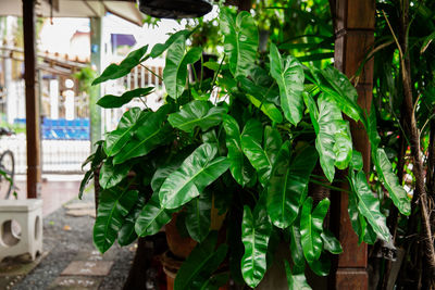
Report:
M 304 149 L 290 162 L 289 148 L 289 142 L 281 148 L 268 187 L 268 214 L 278 228 L 287 228 L 298 216 L 318 162 L 313 147 Z

